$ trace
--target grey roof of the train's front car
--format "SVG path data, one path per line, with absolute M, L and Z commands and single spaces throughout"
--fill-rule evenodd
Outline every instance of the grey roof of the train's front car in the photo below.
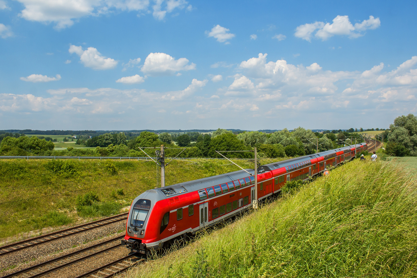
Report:
M 254 169 L 246 169 L 252 175 L 255 173 Z M 250 175 L 244 170 L 234 171 L 231 173 L 215 175 L 207 178 L 200 178 L 198 180 L 190 180 L 185 183 L 176 183 L 162 188 L 155 188 L 149 191 L 155 190 L 158 193 L 162 193 L 166 198 L 171 198 L 171 196 L 178 195 L 185 192 L 193 192 L 201 189 L 205 189 L 214 185 L 219 185 L 223 183 L 228 183 L 232 180 L 239 180 L 241 178 L 249 177 Z

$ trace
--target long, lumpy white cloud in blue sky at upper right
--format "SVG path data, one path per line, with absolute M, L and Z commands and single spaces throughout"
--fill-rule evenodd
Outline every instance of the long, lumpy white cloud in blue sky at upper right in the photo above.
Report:
M 296 28 L 294 35 L 309 42 L 316 30 L 314 37 L 322 40 L 327 40 L 334 35 L 347 35 L 349 38 L 358 38 L 364 35 L 364 31 L 376 29 L 380 25 L 381 21 L 379 18 L 374 18 L 372 15 L 369 16 L 369 19 L 362 21 L 362 23 L 355 23 L 355 25 L 352 25 L 347 15 L 338 15 L 333 19 L 332 24 L 316 21 L 300 25 Z

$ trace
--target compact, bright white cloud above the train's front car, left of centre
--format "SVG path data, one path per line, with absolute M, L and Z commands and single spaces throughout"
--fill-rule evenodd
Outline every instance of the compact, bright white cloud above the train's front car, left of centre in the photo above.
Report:
M 187 58 L 175 58 L 166 53 L 150 53 L 145 59 L 141 72 L 147 75 L 174 75 L 181 70 L 195 70 L 196 64 L 188 64 Z

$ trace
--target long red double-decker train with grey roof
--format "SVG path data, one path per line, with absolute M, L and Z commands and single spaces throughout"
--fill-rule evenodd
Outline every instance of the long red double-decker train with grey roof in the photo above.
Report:
M 367 144 L 360 143 L 261 165 L 257 169 L 257 199 L 278 193 L 289 180 L 308 180 L 366 149 Z M 246 171 L 252 175 L 255 172 Z M 146 190 L 132 202 L 122 244 L 142 254 L 159 250 L 177 237 L 195 234 L 250 208 L 255 178 L 246 171 Z

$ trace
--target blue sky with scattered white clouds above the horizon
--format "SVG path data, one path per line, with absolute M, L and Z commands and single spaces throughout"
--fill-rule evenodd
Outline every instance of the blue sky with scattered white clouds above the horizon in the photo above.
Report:
M 388 128 L 416 6 L 0 0 L 0 129 Z

